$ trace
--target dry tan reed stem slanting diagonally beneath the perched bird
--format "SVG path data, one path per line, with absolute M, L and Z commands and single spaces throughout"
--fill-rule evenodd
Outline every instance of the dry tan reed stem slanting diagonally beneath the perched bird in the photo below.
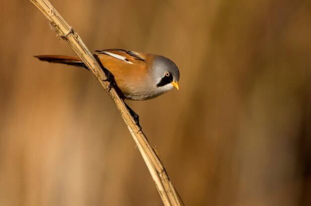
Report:
M 135 121 L 128 109 L 120 99 L 116 91 L 112 88 L 107 90 L 109 83 L 102 81 L 106 79 L 103 70 L 100 68 L 97 61 L 94 59 L 92 53 L 87 49 L 86 45 L 80 39 L 74 29 L 65 21 L 65 19 L 58 13 L 54 6 L 48 0 L 30 0 L 50 21 L 52 28 L 55 30 L 58 36 L 62 37 L 69 46 L 78 54 L 83 60 L 85 65 L 96 76 L 99 83 L 106 90 L 110 98 L 116 104 L 120 111 L 123 120 L 128 126 L 128 129 L 142 154 L 145 163 L 151 173 L 152 178 L 156 183 L 156 188 L 160 194 L 162 202 L 165 206 L 181 206 L 182 201 L 176 193 L 173 184 L 171 183 L 165 168 L 150 146 L 143 131 L 139 131 L 139 128 L 135 124 Z

